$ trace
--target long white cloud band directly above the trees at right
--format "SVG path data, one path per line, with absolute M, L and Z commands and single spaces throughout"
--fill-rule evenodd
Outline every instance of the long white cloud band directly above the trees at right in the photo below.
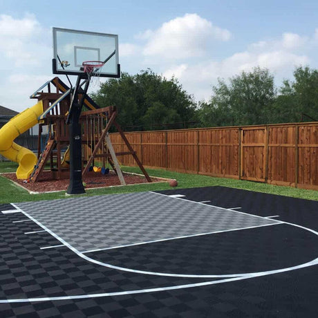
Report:
M 268 68 L 280 85 L 283 78 L 292 76 L 295 66 L 310 64 L 310 57 L 315 54 L 312 53 L 312 43 L 317 43 L 317 35 L 318 30 L 312 37 L 283 33 L 279 39 L 258 41 L 247 46 L 246 50 L 221 60 L 210 58 L 202 59 L 197 64 L 167 66 L 163 75 L 167 78 L 175 75 L 196 100 L 208 100 L 212 95 L 212 86 L 217 84 L 219 77 L 228 79 L 242 71 L 252 71 L 256 66 Z

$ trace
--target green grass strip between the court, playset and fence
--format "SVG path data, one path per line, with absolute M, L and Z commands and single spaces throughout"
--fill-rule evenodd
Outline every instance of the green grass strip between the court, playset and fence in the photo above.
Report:
M 17 169 L 15 162 L 0 162 L 1 172 L 14 172 Z M 136 167 L 122 167 L 123 171 L 140 173 L 140 169 Z M 223 186 L 236 189 L 245 189 L 250 191 L 264 192 L 268 194 L 277 194 L 281 196 L 291 196 L 294 198 L 303 198 L 308 200 L 318 200 L 318 191 L 295 189 L 292 187 L 279 187 L 268 185 L 266 183 L 254 183 L 245 180 L 233 180 L 227 178 L 214 178 L 210 176 L 201 176 L 197 174 L 180 174 L 173 171 L 163 169 L 147 169 L 151 176 L 162 178 L 174 178 L 178 180 L 178 188 L 191 187 L 211 187 Z M 148 183 L 144 185 L 127 185 L 124 187 L 108 187 L 104 189 L 87 190 L 85 196 L 95 196 L 101 194 L 122 194 L 138 191 L 157 191 L 171 189 L 168 183 Z M 66 198 L 65 191 L 53 194 L 29 194 L 28 191 L 15 185 L 7 178 L 0 176 L 0 203 L 15 203 L 22 201 L 50 200 L 55 198 Z

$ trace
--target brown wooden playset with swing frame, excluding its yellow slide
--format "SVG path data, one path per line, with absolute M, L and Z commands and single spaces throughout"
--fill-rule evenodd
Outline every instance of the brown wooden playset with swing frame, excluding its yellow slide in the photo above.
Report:
M 41 86 L 30 98 L 42 101 L 44 113 L 39 118 L 38 161 L 30 175 L 29 182 L 36 183 L 39 180 L 47 163 L 50 165 L 53 179 L 69 178 L 70 132 L 66 118 L 72 102 L 74 103 L 74 100 L 71 100 L 71 98 L 74 99 L 74 95 L 72 97 L 71 89 L 59 77 L 54 77 Z M 83 110 L 79 117 L 79 124 L 82 127 L 82 153 L 80 153 L 81 151 L 77 153 L 77 156 L 82 158 L 82 176 L 88 174 L 93 167 L 100 170 L 101 173 L 106 173 L 109 171 L 106 167 L 110 165 L 118 175 L 121 185 L 125 185 L 117 157 L 129 154 L 133 156 L 150 183 L 151 178 L 120 125 L 116 122 L 116 107 L 100 108 L 91 97 L 81 90 L 79 90 L 77 98 L 84 98 Z M 117 129 L 129 151 L 115 153 L 109 138 L 111 127 Z M 41 144 L 44 131 L 47 132 L 47 138 L 45 144 Z

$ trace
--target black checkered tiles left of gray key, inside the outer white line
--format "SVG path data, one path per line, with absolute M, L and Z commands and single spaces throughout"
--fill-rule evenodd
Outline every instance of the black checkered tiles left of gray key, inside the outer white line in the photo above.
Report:
M 0 219 L 1 229 L 10 232 L 12 222 L 3 215 Z M 6 241 L 1 242 L 2 299 L 120 292 L 198 281 L 113 270 L 90 263 L 65 246 L 41 250 L 60 242 L 47 232 L 27 235 L 25 230 L 17 227 L 14 234 L 6 234 Z

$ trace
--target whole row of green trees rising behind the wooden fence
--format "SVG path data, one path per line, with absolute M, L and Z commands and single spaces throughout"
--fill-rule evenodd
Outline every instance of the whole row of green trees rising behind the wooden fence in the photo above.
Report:
M 294 80 L 277 91 L 274 76 L 263 68 L 218 79 L 209 102 L 194 102 L 176 78 L 165 79 L 151 70 L 122 73 L 93 94 L 100 106 L 115 105 L 118 121 L 129 130 L 176 129 L 177 122 L 198 120 L 200 127 L 275 124 L 318 120 L 318 71 L 299 67 Z M 160 126 L 162 124 L 162 126 Z

